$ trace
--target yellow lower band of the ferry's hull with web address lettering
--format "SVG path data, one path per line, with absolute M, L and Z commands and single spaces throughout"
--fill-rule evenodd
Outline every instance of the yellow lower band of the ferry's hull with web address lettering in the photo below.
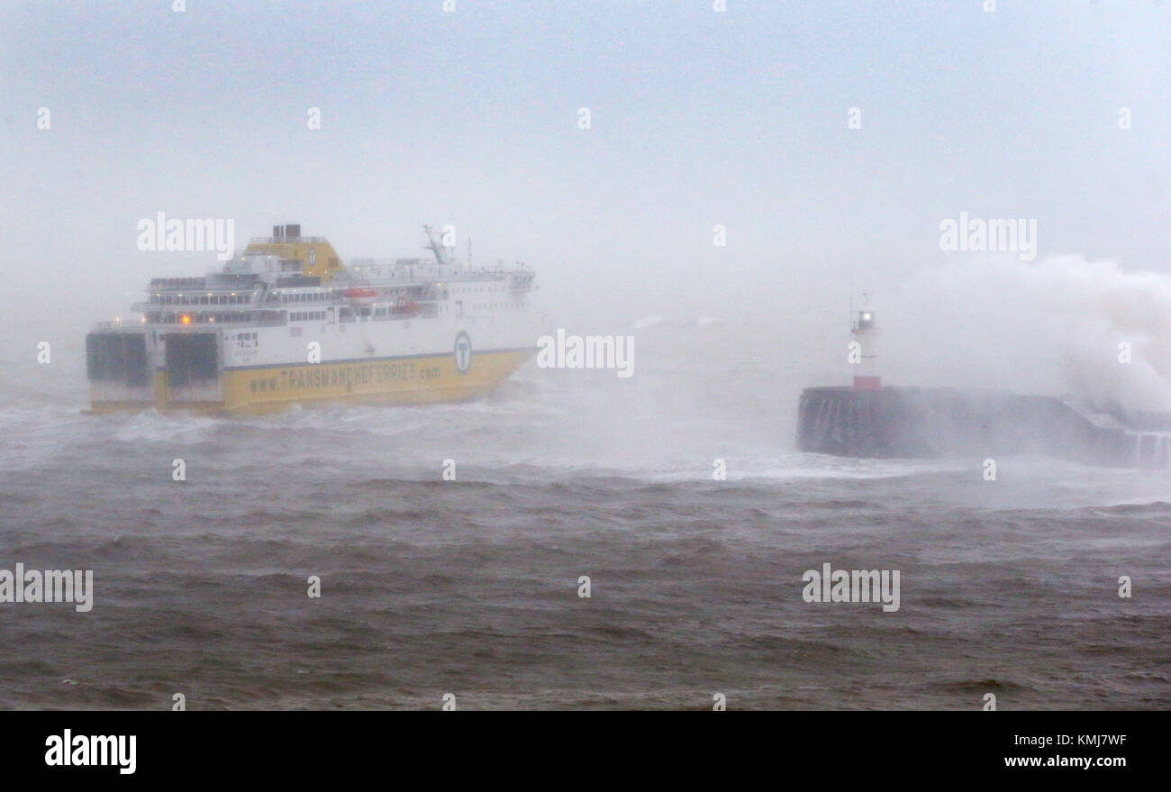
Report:
M 91 409 L 94 412 L 157 408 L 160 411 L 256 414 L 313 402 L 457 402 L 489 391 L 535 351 L 475 353 L 466 371 L 456 367 L 456 357 L 450 353 L 347 363 L 228 369 L 221 373 L 224 400 L 220 402 L 171 402 L 166 397 L 166 374 L 157 371 L 156 403 L 95 401 Z

